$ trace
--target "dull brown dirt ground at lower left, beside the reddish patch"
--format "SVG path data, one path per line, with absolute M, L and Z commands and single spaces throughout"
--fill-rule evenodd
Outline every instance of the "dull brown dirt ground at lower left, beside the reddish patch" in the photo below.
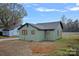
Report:
M 0 55 L 1 56 L 26 56 L 32 55 L 29 46 L 21 41 L 1 41 L 0 42 Z

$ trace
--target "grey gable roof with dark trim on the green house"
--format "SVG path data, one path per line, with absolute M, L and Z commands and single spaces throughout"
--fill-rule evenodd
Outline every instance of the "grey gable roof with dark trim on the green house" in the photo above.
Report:
M 22 25 L 21 27 L 19 27 L 18 30 L 24 27 L 25 25 L 31 25 L 32 27 L 37 28 L 38 30 L 54 30 L 57 28 L 59 24 L 61 25 L 61 28 L 63 29 L 62 23 L 58 21 L 58 22 L 38 23 L 38 24 L 26 23 Z

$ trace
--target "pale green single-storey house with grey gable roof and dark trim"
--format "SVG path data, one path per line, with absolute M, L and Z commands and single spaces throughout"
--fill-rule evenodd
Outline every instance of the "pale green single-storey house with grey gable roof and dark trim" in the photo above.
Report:
M 62 36 L 61 22 L 30 24 L 26 23 L 18 28 L 19 38 L 27 41 L 56 40 Z

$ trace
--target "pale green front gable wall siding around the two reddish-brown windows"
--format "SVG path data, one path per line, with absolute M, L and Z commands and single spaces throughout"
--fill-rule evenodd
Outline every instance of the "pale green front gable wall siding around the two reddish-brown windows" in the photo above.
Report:
M 28 34 L 22 35 L 22 30 L 27 29 Z M 31 34 L 31 31 L 35 30 L 35 34 Z M 41 41 L 44 40 L 44 31 L 39 31 L 32 26 L 24 26 L 22 29 L 19 30 L 19 37 L 22 40 L 33 40 L 33 41 Z

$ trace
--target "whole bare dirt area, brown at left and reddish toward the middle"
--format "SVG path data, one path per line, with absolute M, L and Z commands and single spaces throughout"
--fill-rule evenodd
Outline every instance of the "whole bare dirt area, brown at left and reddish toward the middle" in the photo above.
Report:
M 0 41 L 0 56 L 47 55 L 55 49 L 53 42 Z

